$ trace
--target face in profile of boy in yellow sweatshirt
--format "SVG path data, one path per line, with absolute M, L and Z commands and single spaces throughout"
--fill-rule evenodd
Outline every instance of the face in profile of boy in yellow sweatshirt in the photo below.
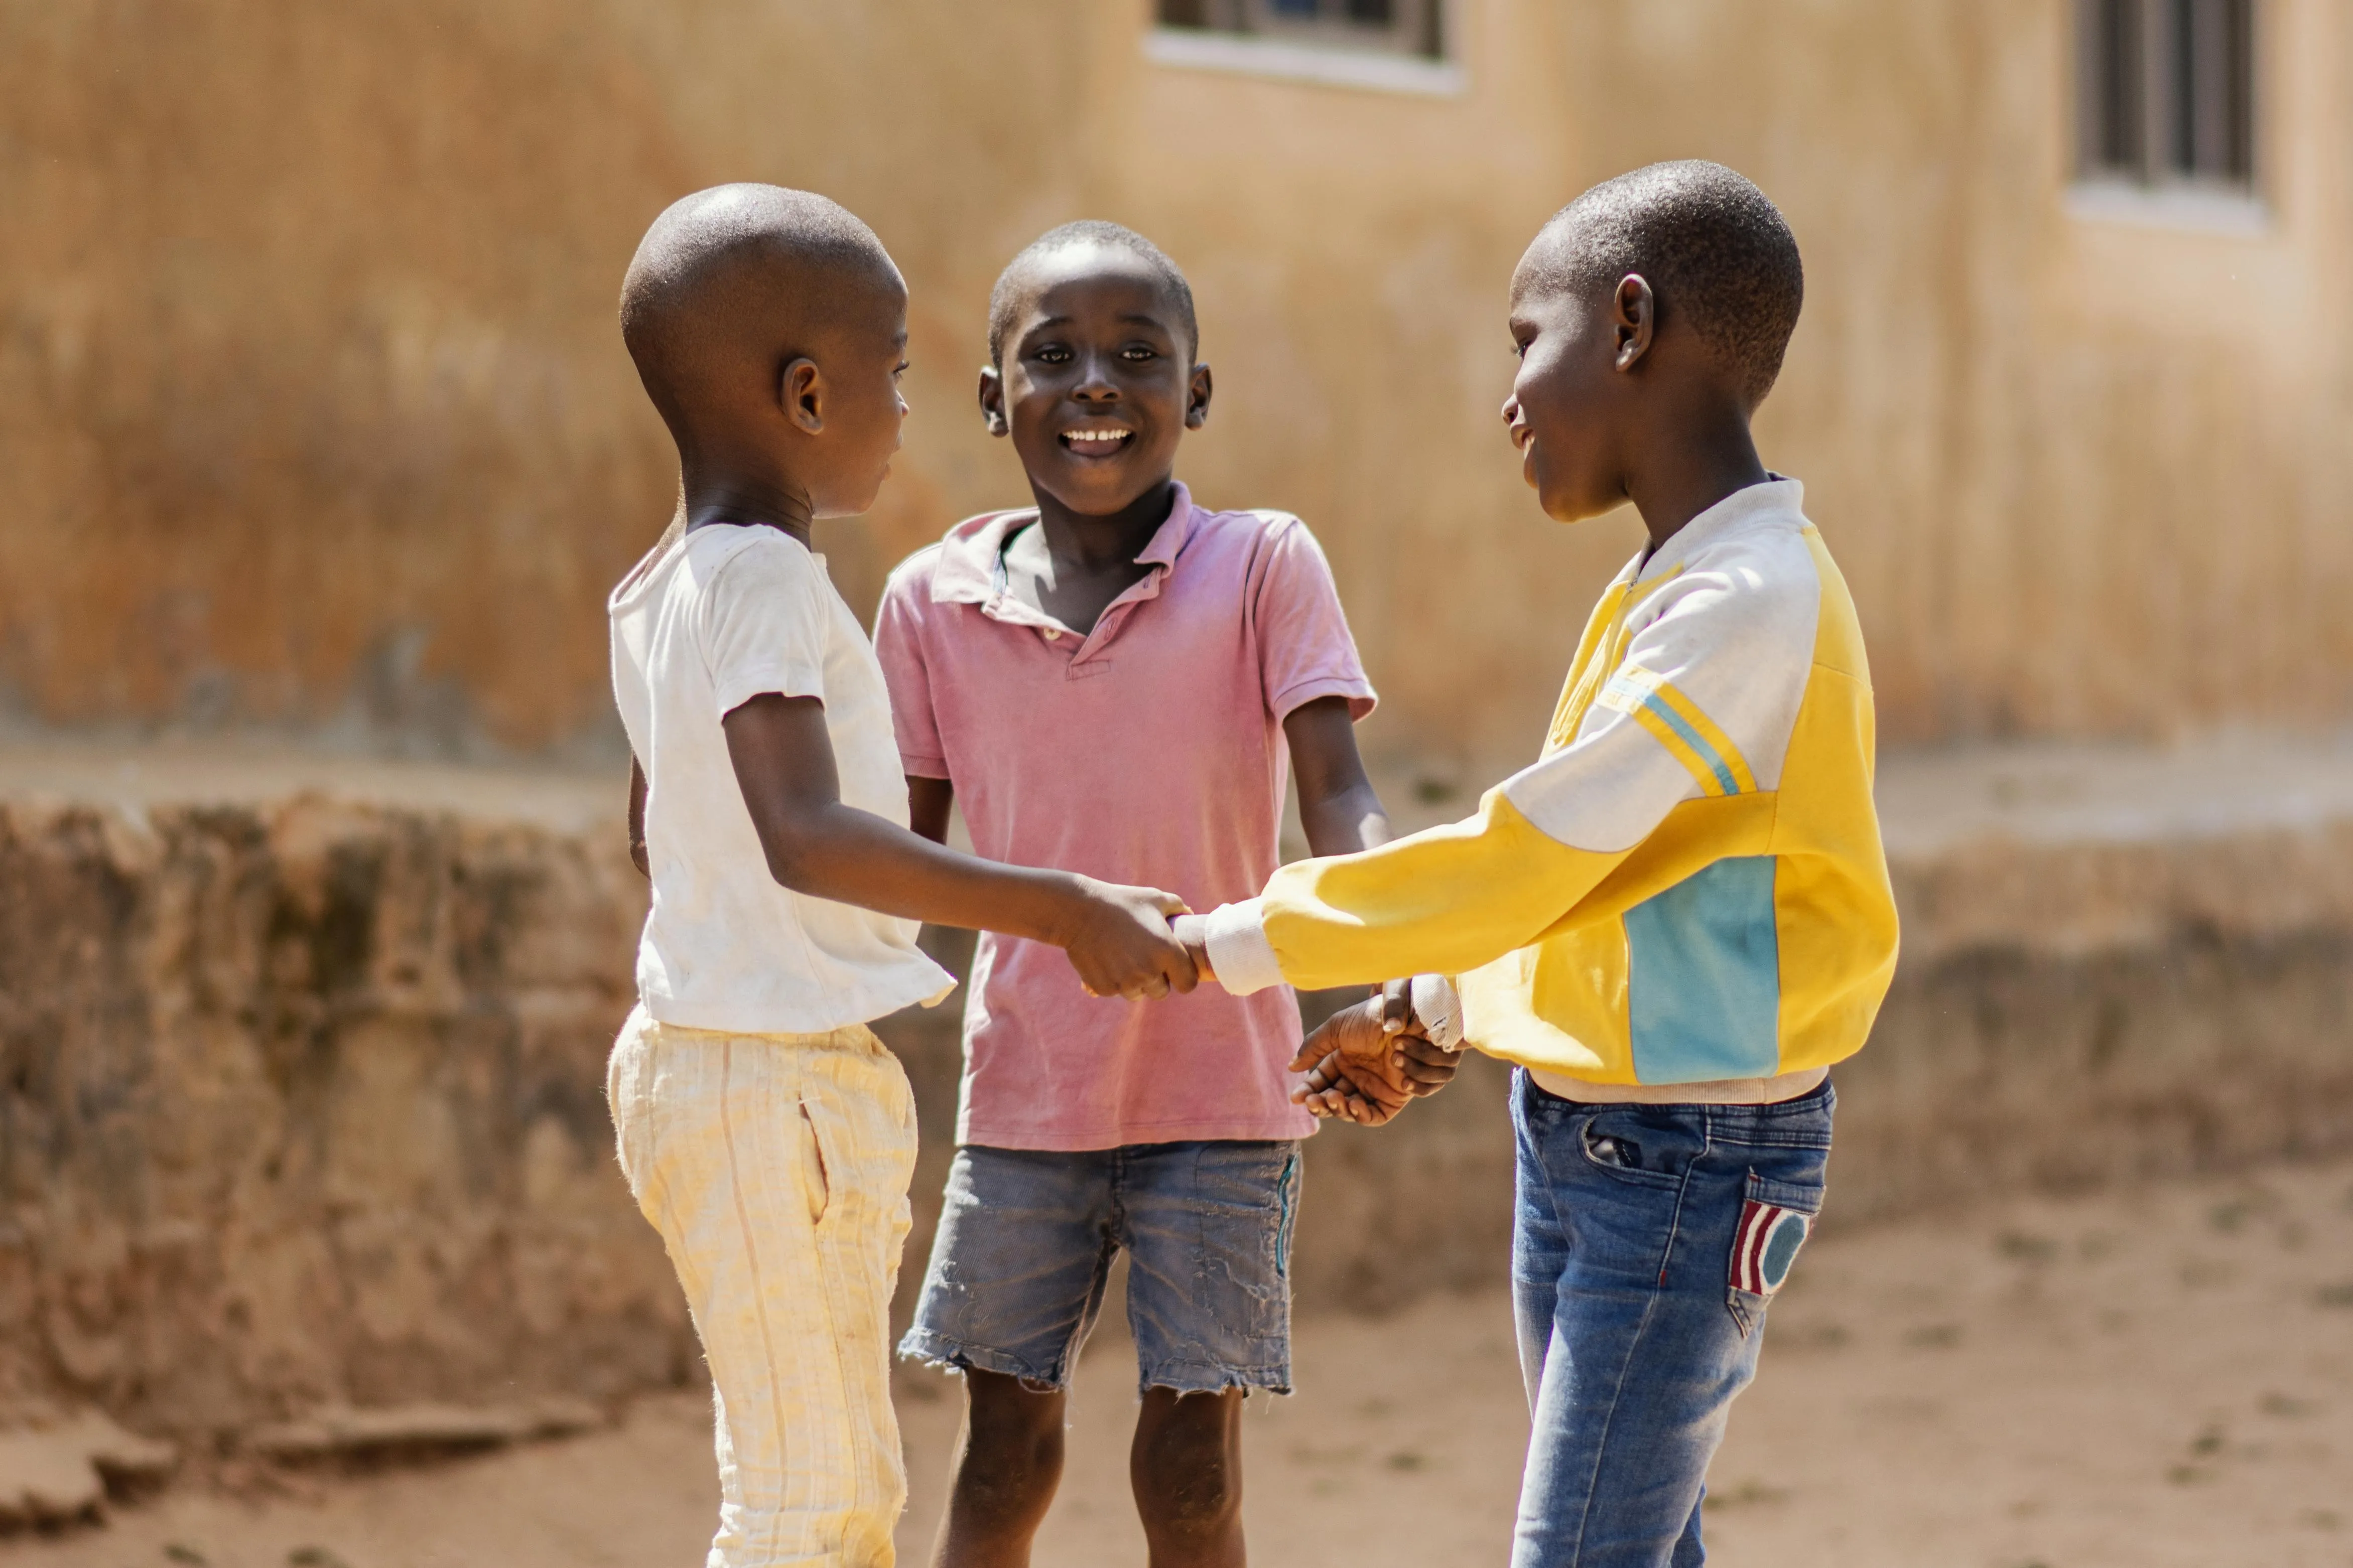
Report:
M 1633 395 L 1628 371 L 1649 348 L 1649 289 L 1642 284 L 1633 310 L 1640 322 L 1624 320 L 1624 287 L 1588 296 L 1560 282 L 1553 256 L 1553 235 L 1541 233 L 1511 275 L 1520 374 L 1504 423 L 1544 515 L 1579 522 L 1626 501 L 1621 425 Z

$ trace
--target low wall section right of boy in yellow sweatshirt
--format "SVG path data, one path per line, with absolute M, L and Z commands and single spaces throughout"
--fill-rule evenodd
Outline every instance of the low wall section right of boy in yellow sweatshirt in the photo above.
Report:
M 2353 1147 L 2353 823 L 1897 872 L 1904 961 L 1838 1072 L 1842 1215 Z

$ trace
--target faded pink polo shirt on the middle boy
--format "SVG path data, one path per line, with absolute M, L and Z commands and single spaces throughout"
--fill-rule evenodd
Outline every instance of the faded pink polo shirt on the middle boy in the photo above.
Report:
M 972 846 L 1019 865 L 1254 898 L 1280 863 L 1282 717 L 1320 696 L 1372 712 L 1332 569 L 1285 512 L 1176 505 L 1144 581 L 1085 637 L 1005 592 L 1035 510 L 948 529 L 892 574 L 875 618 L 899 757 L 948 778 Z M 1289 1103 L 1299 1001 L 1089 997 L 1054 947 L 981 936 L 965 999 L 958 1143 L 1108 1150 L 1304 1138 Z

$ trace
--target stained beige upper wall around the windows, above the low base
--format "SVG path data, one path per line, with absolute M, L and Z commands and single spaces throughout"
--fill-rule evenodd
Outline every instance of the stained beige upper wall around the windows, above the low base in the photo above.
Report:
M 612 329 L 682 190 L 774 179 L 915 292 L 908 451 L 833 529 L 1021 498 L 969 414 L 1002 259 L 1071 216 L 1193 275 L 1184 468 L 1325 538 L 1440 776 L 1532 743 L 1628 520 L 1546 524 L 1501 294 L 1584 183 L 1711 155 L 1812 299 L 1762 421 L 1899 738 L 2353 710 L 2353 21 L 2266 5 L 2252 237 L 2073 216 L 2059 0 L 1461 0 L 1459 96 L 1146 63 L 1146 7 L 0 0 L 0 696 L 21 724 L 426 750 L 609 736 L 600 592 L 671 473 Z M 1464 778 L 1464 783 L 1478 783 Z

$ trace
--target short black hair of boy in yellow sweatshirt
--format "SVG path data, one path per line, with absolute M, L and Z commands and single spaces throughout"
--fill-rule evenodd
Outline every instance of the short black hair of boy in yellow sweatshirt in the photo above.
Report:
M 1699 158 L 1654 162 L 1593 186 L 1544 233 L 1553 254 L 1541 284 L 1598 292 L 1640 273 L 1661 317 L 1682 313 L 1753 402 L 1772 390 L 1805 306 L 1805 263 L 1781 209 L 1744 174 Z

